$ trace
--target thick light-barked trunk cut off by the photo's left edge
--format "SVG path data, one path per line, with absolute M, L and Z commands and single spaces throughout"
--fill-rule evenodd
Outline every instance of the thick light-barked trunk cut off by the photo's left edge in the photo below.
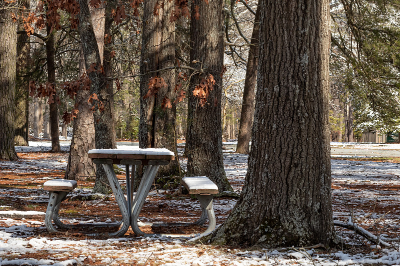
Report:
M 16 75 L 16 23 L 11 4 L 0 3 L 0 159 L 15 160 L 14 94 Z

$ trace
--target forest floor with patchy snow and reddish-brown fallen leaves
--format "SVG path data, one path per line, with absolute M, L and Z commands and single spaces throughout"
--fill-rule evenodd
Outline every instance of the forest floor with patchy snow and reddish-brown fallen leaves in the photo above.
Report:
M 34 145 L 32 145 L 34 146 Z M 63 178 L 67 163 L 63 152 L 46 147 L 17 147 L 19 160 L 0 161 L 0 266 L 2 265 L 134 265 L 134 266 L 247 266 L 247 265 L 399 265 L 400 163 L 398 158 L 333 158 L 332 208 L 334 220 L 352 222 L 390 244 L 377 246 L 352 231 L 335 227 L 343 245 L 335 249 L 283 248 L 248 250 L 209 246 L 176 238 L 138 238 L 129 231 L 123 238 L 88 237 L 79 232 L 50 234 L 44 227 L 48 193 L 42 184 Z M 182 162 L 184 166 L 185 162 Z M 240 192 L 247 170 L 247 155 L 224 153 L 226 175 Z M 124 174 L 118 175 L 124 186 Z M 94 182 L 78 182 L 70 199 L 61 204 L 64 222 L 110 223 L 120 220 L 112 197 L 82 200 L 91 195 Z M 215 198 L 217 226 L 236 203 Z M 195 221 L 199 203 L 176 194 L 176 187 L 150 191 L 140 220 Z M 170 233 L 197 233 L 204 227 L 167 228 Z M 151 228 L 143 231 L 156 232 Z

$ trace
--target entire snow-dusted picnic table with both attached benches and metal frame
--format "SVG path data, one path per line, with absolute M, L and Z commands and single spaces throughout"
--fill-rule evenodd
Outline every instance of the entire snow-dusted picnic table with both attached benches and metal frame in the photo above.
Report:
M 88 157 L 95 164 L 101 164 L 109 181 L 115 201 L 118 204 L 119 211 L 122 215 L 122 221 L 110 225 L 90 224 L 91 227 L 115 227 L 120 226 L 117 232 L 107 233 L 108 236 L 123 236 L 129 226 L 137 236 L 162 236 L 162 237 L 187 237 L 188 235 L 169 235 L 169 234 L 145 234 L 139 227 L 143 226 L 185 226 L 185 225 L 202 225 L 208 218 L 208 227 L 205 232 L 196 235 L 191 240 L 198 239 L 209 234 L 215 229 L 215 214 L 212 208 L 213 195 L 218 193 L 218 187 L 205 176 L 185 177 L 181 180 L 182 185 L 187 189 L 189 194 L 194 195 L 200 202 L 201 217 L 194 223 L 141 223 L 138 220 L 141 208 L 150 191 L 155 175 L 160 165 L 167 165 L 174 159 L 173 152 L 167 149 L 139 149 L 136 147 L 121 147 L 118 149 L 93 149 L 88 151 Z M 126 199 L 124 192 L 116 178 L 113 164 L 125 165 L 126 179 Z M 135 167 L 138 165 L 145 166 L 139 187 L 133 197 L 133 183 Z M 130 174 L 130 166 L 132 171 Z M 72 229 L 75 225 L 63 224 L 58 217 L 60 203 L 66 198 L 66 195 L 77 187 L 76 181 L 73 180 L 50 180 L 43 184 L 43 190 L 49 191 L 49 202 L 47 205 L 45 226 L 49 232 L 58 232 L 54 228 L 51 221 L 60 229 Z M 93 233 L 90 235 L 98 235 Z

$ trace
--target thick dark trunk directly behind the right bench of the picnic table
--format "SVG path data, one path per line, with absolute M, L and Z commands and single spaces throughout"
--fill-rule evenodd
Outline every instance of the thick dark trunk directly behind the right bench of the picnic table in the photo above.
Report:
M 194 18 L 196 5 L 199 18 Z M 194 0 L 190 20 L 190 64 L 203 73 L 190 78 L 187 108 L 187 176 L 207 176 L 219 192 L 233 191 L 223 169 L 221 93 L 223 64 L 223 1 Z M 215 85 L 204 106 L 198 104 L 193 89 L 211 74 Z

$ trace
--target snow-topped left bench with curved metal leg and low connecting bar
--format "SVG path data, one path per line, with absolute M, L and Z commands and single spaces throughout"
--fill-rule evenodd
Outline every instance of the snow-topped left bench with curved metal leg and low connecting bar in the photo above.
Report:
M 43 190 L 49 192 L 49 201 L 47 205 L 46 215 L 44 218 L 44 224 L 46 229 L 50 233 L 58 232 L 52 224 L 56 225 L 58 229 L 72 229 L 79 227 L 114 227 L 119 226 L 121 222 L 115 224 L 81 224 L 81 225 L 69 225 L 64 224 L 58 217 L 58 211 L 60 203 L 65 200 L 68 193 L 72 192 L 77 187 L 77 182 L 74 180 L 64 180 L 64 179 L 53 179 L 44 182 Z

